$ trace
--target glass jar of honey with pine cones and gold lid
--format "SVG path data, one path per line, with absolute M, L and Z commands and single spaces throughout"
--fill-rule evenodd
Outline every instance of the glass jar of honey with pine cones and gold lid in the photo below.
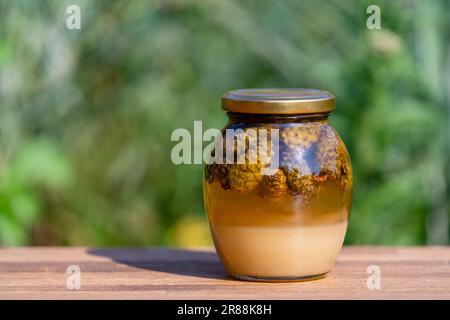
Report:
M 214 245 L 232 277 L 304 280 L 331 270 L 352 198 L 350 158 L 328 123 L 334 107 L 333 95 L 313 89 L 222 97 L 229 122 L 203 190 Z

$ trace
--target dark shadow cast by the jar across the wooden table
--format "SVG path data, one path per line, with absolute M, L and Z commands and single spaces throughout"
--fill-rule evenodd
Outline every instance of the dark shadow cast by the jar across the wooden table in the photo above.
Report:
M 88 253 L 135 268 L 209 279 L 229 279 L 214 251 L 167 248 L 100 249 Z

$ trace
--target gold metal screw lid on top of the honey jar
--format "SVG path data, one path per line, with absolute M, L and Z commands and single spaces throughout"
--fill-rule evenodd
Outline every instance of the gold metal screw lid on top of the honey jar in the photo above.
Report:
M 309 114 L 329 112 L 334 108 L 334 96 L 317 89 L 239 89 L 222 96 L 222 109 L 237 113 Z

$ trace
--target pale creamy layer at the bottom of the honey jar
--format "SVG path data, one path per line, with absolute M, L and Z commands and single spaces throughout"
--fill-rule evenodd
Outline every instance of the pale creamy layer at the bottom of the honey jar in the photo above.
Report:
M 234 274 L 304 277 L 331 270 L 347 222 L 292 227 L 213 226 L 216 248 Z

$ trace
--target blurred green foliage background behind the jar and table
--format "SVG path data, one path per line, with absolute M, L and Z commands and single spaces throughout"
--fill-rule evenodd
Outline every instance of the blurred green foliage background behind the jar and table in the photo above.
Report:
M 0 244 L 211 244 L 202 166 L 172 164 L 170 135 L 274 86 L 337 97 L 346 243 L 448 243 L 449 39 L 439 0 L 0 0 Z

